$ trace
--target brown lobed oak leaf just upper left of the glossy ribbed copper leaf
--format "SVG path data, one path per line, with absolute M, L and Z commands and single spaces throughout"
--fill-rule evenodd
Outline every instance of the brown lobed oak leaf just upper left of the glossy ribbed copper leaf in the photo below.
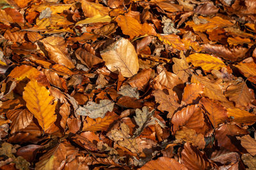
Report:
M 156 102 L 160 105 L 157 107 L 161 111 L 168 111 L 168 118 L 172 118 L 172 115 L 177 108 L 179 108 L 179 104 L 177 103 L 178 97 L 175 92 L 171 94 L 165 94 L 162 90 L 156 90 L 153 92 L 155 96 Z

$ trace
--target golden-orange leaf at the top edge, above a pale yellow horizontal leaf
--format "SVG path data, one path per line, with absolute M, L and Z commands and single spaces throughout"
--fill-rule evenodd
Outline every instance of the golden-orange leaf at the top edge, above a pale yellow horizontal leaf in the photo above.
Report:
M 109 8 L 104 7 L 102 4 L 91 3 L 86 0 L 82 0 L 82 9 L 85 17 L 93 17 L 95 15 L 108 15 Z

